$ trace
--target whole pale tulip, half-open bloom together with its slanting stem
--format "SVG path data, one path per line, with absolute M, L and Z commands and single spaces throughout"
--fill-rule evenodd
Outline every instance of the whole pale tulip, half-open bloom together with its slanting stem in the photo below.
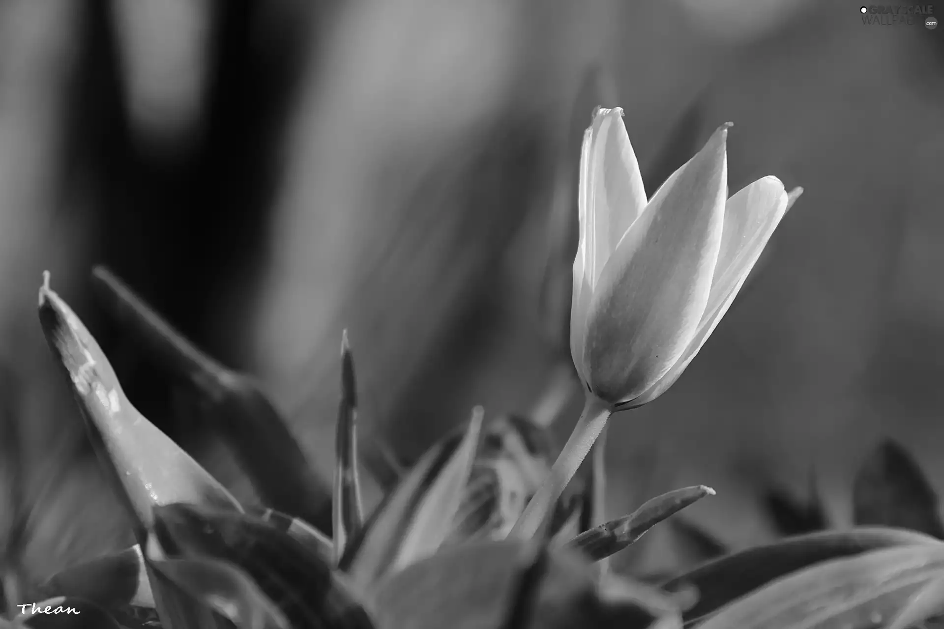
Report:
M 599 108 L 583 137 L 570 350 L 586 404 L 515 524 L 521 537 L 538 530 L 609 416 L 682 375 L 802 192 L 766 176 L 728 198 L 724 124 L 647 201 L 622 116 Z

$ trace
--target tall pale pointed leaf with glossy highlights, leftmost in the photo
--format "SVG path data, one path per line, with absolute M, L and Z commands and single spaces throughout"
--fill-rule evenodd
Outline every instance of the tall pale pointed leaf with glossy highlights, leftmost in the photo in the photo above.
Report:
M 173 502 L 240 505 L 173 440 L 131 406 L 98 343 L 72 309 L 46 283 L 40 289 L 40 323 L 54 356 L 69 376 L 90 439 L 119 494 L 142 528 L 155 505 Z

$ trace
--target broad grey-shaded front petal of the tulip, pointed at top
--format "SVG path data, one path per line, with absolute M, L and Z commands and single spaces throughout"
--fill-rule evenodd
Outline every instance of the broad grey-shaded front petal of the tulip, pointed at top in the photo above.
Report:
M 606 402 L 649 389 L 698 331 L 721 243 L 728 126 L 669 177 L 603 269 L 583 351 Z

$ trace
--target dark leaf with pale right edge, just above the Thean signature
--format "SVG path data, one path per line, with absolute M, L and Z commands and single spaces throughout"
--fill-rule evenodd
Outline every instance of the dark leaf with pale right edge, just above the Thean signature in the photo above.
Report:
M 41 589 L 50 598 L 79 598 L 106 609 L 128 604 L 154 606 L 141 547 L 137 545 L 59 571 Z

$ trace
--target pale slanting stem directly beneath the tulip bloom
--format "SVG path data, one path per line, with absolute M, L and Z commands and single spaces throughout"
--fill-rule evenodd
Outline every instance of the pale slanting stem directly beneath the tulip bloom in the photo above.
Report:
M 545 521 L 553 513 L 557 499 L 561 497 L 577 468 L 589 454 L 611 413 L 609 406 L 593 396 L 587 396 L 581 419 L 570 433 L 570 439 L 567 439 L 561 455 L 554 461 L 550 477 L 531 498 L 518 521 L 514 522 L 514 527 L 508 534 L 510 538 L 530 539 L 543 528 Z

